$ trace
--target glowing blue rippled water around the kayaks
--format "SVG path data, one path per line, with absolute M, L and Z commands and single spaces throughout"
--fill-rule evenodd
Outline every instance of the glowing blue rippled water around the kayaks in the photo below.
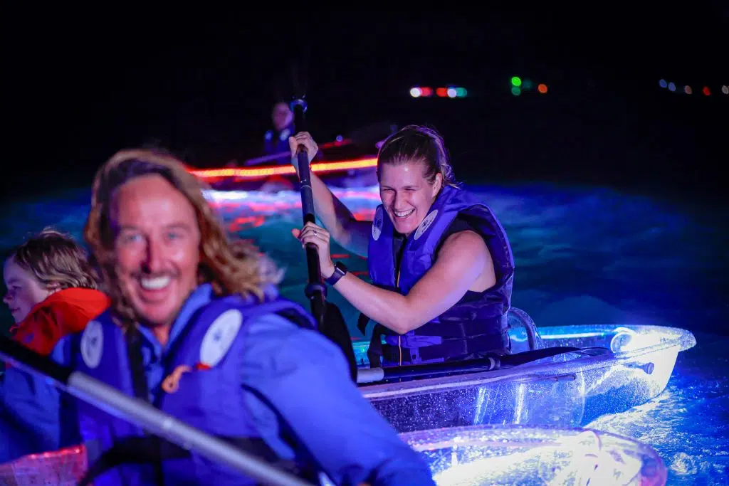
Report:
M 729 305 L 722 293 L 729 287 L 729 214 L 607 189 L 532 185 L 475 191 L 510 235 L 518 269 L 513 302 L 538 326 L 632 321 L 695 334 L 698 344 L 679 354 L 660 396 L 583 425 L 650 444 L 669 469 L 668 484 L 729 483 Z M 289 235 L 301 221 L 299 196 L 219 197 L 231 230 L 256 240 L 286 267 L 284 295 L 305 302 L 302 251 Z M 371 191 L 343 197 L 362 213 L 378 204 Z M 87 191 L 66 191 L 6 205 L 0 248 L 49 224 L 80 236 L 87 203 Z M 332 251 L 346 253 L 337 246 Z M 366 270 L 364 259 L 348 256 L 347 264 Z M 336 291 L 330 301 L 343 310 L 351 334 L 359 336 L 352 307 Z M 2 319 L 7 323 L 7 311 Z

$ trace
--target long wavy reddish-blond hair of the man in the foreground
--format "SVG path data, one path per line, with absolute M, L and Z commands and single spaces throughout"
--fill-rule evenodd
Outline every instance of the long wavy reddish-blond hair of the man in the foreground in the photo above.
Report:
M 126 326 L 123 323 L 131 324 L 138 318 L 117 278 L 109 210 L 117 189 L 132 179 L 149 175 L 166 179 L 195 210 L 200 229 L 198 283 L 211 283 L 218 296 L 241 294 L 260 300 L 266 286 L 281 281 L 281 271 L 251 243 L 228 240 L 222 222 L 203 196 L 204 184 L 187 171 L 182 162 L 170 154 L 152 150 L 122 150 L 96 173 L 84 238 L 98 262 L 106 290 L 112 298 L 112 309 L 123 327 Z

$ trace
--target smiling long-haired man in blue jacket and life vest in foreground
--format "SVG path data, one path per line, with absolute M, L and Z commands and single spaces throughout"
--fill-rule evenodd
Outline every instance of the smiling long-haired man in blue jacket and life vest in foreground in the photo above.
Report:
M 302 477 L 433 484 L 351 383 L 340 349 L 276 295 L 273 264 L 228 242 L 180 162 L 145 151 L 112 157 L 95 178 L 85 238 L 112 307 L 60 342 L 56 360 Z M 252 483 L 82 401 L 75 407 L 95 485 Z

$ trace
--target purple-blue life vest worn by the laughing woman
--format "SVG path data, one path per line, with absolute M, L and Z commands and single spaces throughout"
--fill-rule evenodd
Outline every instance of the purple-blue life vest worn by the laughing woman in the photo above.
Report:
M 423 222 L 405 240 L 399 281 L 395 275 L 394 226 L 383 205 L 378 206 L 367 251 L 370 279 L 376 286 L 407 295 L 433 266 L 437 249 L 456 217 L 483 237 L 494 262 L 496 283 L 483 292 L 467 292 L 445 313 L 406 334 L 397 334 L 378 324 L 367 352 L 370 367 L 510 352 L 507 313 L 511 305 L 514 256 L 506 232 L 494 213 L 469 192 L 450 186 L 441 190 Z M 367 321 L 367 316 L 361 316 L 359 329 L 363 333 Z M 383 336 L 385 343 L 381 341 Z

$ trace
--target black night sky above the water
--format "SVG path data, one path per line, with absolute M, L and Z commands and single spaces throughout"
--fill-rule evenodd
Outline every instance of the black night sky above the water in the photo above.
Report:
M 16 4 L 3 28 L 4 193 L 85 186 L 115 151 L 145 143 L 200 167 L 253 157 L 273 101 L 305 90 L 319 141 L 378 122 L 429 123 L 467 181 L 716 202 L 714 164 L 728 153 L 729 7 L 683 5 L 239 14 Z M 516 97 L 512 76 L 550 90 Z M 661 78 L 694 94 L 668 93 Z M 408 95 L 448 84 L 467 98 Z

